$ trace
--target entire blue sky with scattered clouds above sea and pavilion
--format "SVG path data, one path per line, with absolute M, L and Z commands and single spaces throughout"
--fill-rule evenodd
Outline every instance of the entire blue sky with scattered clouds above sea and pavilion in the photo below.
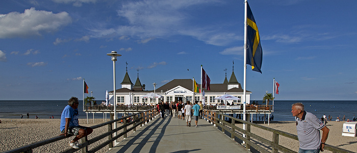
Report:
M 275 100 L 357 99 L 357 1 L 248 3 L 263 49 L 262 73 L 247 65 L 251 100 L 272 93 L 274 78 Z M 243 0 L 2 1 L 0 100 L 82 99 L 83 79 L 105 99 L 112 50 L 122 55 L 117 89 L 126 66 L 146 90 L 173 79 L 199 82 L 200 65 L 212 84 L 234 69 L 243 86 L 243 45 Z

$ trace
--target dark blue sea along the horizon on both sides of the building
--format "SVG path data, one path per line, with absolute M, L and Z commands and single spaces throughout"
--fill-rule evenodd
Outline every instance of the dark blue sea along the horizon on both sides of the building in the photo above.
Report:
M 250 101 L 250 103 L 252 102 Z M 305 111 L 313 113 L 318 118 L 323 115 L 331 115 L 333 120 L 336 120 L 336 117 L 339 116 L 342 119 L 345 115 L 347 120 L 347 118 L 352 119 L 353 115 L 357 115 L 357 100 L 274 100 L 274 112 L 271 114 L 274 115 L 274 121 L 294 121 L 291 114 L 291 105 L 294 103 L 302 103 L 305 106 Z M 258 104 L 263 103 L 258 100 Z M 272 105 L 272 101 L 269 105 Z M 66 106 L 67 100 L 0 100 L 0 119 L 20 118 L 21 114 L 23 119 L 26 119 L 27 113 L 29 113 L 29 118 L 36 116 L 39 118 L 52 118 L 52 116 L 61 118 L 61 113 Z M 78 109 L 80 111 L 79 118 L 87 118 L 86 113 L 83 112 L 81 101 Z M 259 116 L 264 115 L 259 114 L 257 120 L 259 120 Z M 103 114 L 94 114 L 94 118 L 103 117 Z M 89 114 L 88 118 L 93 118 L 93 114 Z M 256 115 L 253 115 L 253 120 L 256 120 Z

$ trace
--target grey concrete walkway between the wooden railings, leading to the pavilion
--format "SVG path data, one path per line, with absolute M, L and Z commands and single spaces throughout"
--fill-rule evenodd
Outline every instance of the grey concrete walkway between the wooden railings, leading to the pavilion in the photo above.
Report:
M 195 127 L 171 116 L 159 116 L 117 144 L 113 152 L 250 152 L 204 119 Z

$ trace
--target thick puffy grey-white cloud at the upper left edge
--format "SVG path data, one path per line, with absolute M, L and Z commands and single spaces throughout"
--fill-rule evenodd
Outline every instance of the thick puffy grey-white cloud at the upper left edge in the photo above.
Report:
M 0 14 L 0 38 L 41 36 L 42 33 L 53 33 L 71 23 L 67 12 L 38 11 L 26 9 L 24 13 L 10 12 Z

